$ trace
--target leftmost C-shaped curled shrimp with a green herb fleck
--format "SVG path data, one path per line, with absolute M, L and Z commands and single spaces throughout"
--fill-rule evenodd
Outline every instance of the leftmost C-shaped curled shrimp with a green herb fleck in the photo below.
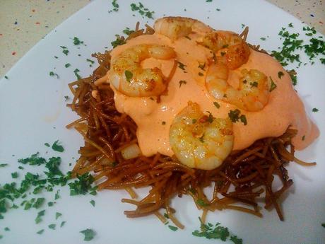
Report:
M 175 51 L 162 45 L 135 45 L 130 47 L 112 61 L 108 80 L 118 91 L 131 97 L 149 97 L 162 94 L 167 88 L 167 81 L 157 67 L 143 69 L 141 61 L 155 59 L 172 59 Z

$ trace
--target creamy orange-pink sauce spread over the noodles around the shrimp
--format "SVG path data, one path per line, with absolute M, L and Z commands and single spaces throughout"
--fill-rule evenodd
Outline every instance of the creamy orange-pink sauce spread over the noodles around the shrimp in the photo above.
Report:
M 167 156 L 174 154 L 169 143 L 170 124 L 175 115 L 187 106 L 189 100 L 199 103 L 203 112 L 209 111 L 214 117 L 228 117 L 228 112 L 236 109 L 234 105 L 217 100 L 206 91 L 204 86 L 206 71 L 199 68 L 199 64 L 208 64 L 208 58 L 211 58 L 212 54 L 210 50 L 196 44 L 195 40 L 200 40 L 199 35 L 192 34 L 189 37 L 191 40 L 181 37 L 172 42 L 169 38 L 159 34 L 141 35 L 112 50 L 112 59 L 115 59 L 121 52 L 133 45 L 168 45 L 175 49 L 177 61 L 186 65 L 184 70 L 177 67 L 168 85 L 167 95 L 161 96 L 160 103 L 155 101 L 156 98 L 132 98 L 113 88 L 117 110 L 128 114 L 138 125 L 138 144 L 144 156 L 152 156 L 157 152 Z M 241 111 L 247 117 L 247 125 L 242 122 L 233 124 L 235 134 L 233 150 L 245 149 L 257 139 L 280 136 L 288 127 L 298 131 L 293 139 L 295 148 L 304 149 L 319 136 L 319 130 L 307 117 L 305 107 L 293 89 L 289 74 L 272 57 L 251 51 L 247 64 L 232 71 L 228 82 L 236 87 L 240 78 L 240 70 L 258 69 L 266 76 L 271 76 L 277 87 L 270 93 L 268 104 L 263 110 Z M 165 76 L 170 74 L 173 65 L 174 60 L 163 61 L 153 58 L 146 59 L 142 63 L 144 68 L 155 66 L 160 68 Z M 278 78 L 279 71 L 285 74 L 281 79 Z M 199 73 L 203 75 L 200 76 Z M 107 78 L 103 77 L 103 79 Z M 179 81 L 186 81 L 186 83 L 180 86 Z M 220 108 L 216 108 L 213 102 L 218 102 Z M 304 139 L 302 139 L 303 136 Z

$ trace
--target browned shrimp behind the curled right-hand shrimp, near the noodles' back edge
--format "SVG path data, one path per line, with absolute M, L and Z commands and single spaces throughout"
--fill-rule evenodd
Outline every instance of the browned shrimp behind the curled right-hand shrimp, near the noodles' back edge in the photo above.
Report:
M 250 50 L 246 42 L 230 31 L 213 31 L 203 37 L 201 45 L 212 52 L 218 52 L 216 60 L 223 62 L 229 69 L 237 69 L 247 63 Z

